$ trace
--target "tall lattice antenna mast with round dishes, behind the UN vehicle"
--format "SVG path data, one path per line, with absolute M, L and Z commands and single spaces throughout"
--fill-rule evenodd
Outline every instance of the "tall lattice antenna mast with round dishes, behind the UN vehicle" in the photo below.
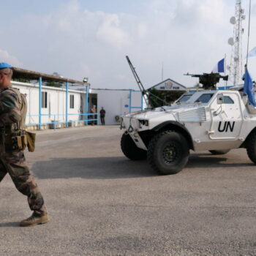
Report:
M 230 23 L 234 25 L 233 37 L 228 39 L 229 45 L 232 45 L 231 59 L 230 59 L 230 86 L 238 86 L 242 79 L 242 35 L 244 29 L 242 28 L 242 21 L 245 20 L 244 9 L 241 7 L 241 0 L 236 0 L 235 16 L 230 18 Z

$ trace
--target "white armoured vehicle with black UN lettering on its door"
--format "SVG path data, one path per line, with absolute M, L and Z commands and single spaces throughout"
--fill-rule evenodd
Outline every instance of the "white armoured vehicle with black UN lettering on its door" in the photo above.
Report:
M 238 91 L 186 93 L 173 105 L 122 117 L 124 155 L 148 159 L 161 174 L 178 173 L 189 150 L 225 154 L 246 148 L 256 163 L 256 108 Z

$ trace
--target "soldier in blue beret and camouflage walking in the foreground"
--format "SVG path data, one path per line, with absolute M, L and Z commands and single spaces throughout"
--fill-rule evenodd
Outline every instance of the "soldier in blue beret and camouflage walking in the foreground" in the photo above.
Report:
M 0 63 L 0 182 L 9 173 L 18 191 L 28 197 L 33 214 L 20 222 L 20 226 L 27 227 L 44 224 L 49 217 L 37 183 L 26 164 L 24 148 L 18 146 L 20 138 L 24 138 L 21 135 L 27 103 L 20 91 L 12 89 L 11 79 L 12 66 Z

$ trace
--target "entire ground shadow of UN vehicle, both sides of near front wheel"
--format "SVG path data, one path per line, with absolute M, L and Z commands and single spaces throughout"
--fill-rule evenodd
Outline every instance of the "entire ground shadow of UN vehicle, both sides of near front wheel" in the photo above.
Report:
M 249 166 L 249 163 L 226 163 L 226 157 L 192 154 L 187 168 L 227 168 Z M 125 157 L 95 157 L 51 159 L 34 163 L 32 170 L 38 178 L 137 178 L 159 176 L 146 161 L 131 161 Z

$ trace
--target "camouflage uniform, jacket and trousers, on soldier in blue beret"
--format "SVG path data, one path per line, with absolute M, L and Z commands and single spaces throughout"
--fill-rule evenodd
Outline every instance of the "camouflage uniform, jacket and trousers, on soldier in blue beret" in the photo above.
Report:
M 44 200 L 29 172 L 24 152 L 12 151 L 6 140 L 14 130 L 23 129 L 25 118 L 26 100 L 21 97 L 20 92 L 11 87 L 0 89 L 0 182 L 9 173 L 18 191 L 28 197 L 31 211 L 44 216 L 47 214 Z

